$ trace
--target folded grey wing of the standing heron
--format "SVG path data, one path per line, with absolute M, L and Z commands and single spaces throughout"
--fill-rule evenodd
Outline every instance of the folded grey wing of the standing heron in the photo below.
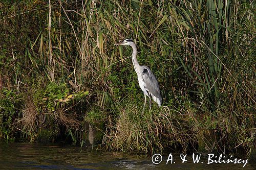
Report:
M 142 68 L 143 68 L 142 69 L 142 78 L 143 78 L 143 81 L 145 82 L 145 86 L 146 86 L 145 88 L 150 93 L 152 93 L 156 98 L 158 98 L 158 99 L 160 99 L 160 101 L 162 101 L 159 85 L 158 85 L 157 79 L 154 76 L 153 72 L 147 66 L 143 65 Z

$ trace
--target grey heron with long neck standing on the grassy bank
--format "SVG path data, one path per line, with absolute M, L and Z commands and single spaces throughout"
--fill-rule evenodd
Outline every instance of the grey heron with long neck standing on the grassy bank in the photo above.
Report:
M 144 92 L 144 106 L 143 111 L 146 104 L 146 96 L 150 98 L 150 109 L 151 109 L 151 97 L 160 107 L 162 104 L 162 97 L 159 89 L 159 85 L 156 77 L 153 72 L 147 66 L 139 65 L 138 60 L 136 58 L 137 55 L 137 47 L 136 44 L 131 39 L 125 39 L 123 42 L 116 43 L 115 45 L 130 45 L 133 48 L 132 61 L 134 69 L 138 76 L 139 86 L 141 90 Z M 142 111 L 142 112 L 143 112 Z

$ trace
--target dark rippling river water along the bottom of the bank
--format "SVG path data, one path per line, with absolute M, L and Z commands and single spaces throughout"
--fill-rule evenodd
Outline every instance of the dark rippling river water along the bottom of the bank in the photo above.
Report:
M 154 164 L 151 157 L 118 152 L 80 151 L 79 147 L 43 145 L 37 143 L 0 143 L 0 169 L 255 169 L 256 162 L 211 163 L 201 156 L 193 163 L 192 156 L 182 163 L 180 154 L 173 155 L 173 163 L 163 156 Z M 169 157 L 170 158 L 170 157 Z M 229 157 L 228 157 L 229 158 Z M 242 157 L 241 157 L 242 158 Z M 159 159 L 158 159 L 159 160 Z M 246 160 L 246 158 L 243 158 Z M 174 163 L 175 162 L 175 163 Z M 203 162 L 203 163 L 202 163 Z

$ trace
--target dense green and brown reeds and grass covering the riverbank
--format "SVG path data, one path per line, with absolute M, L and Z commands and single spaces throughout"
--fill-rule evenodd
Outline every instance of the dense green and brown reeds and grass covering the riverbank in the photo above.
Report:
M 255 2 L 2 1 L 0 138 L 147 154 L 255 150 Z M 131 62 L 159 81 L 148 105 Z

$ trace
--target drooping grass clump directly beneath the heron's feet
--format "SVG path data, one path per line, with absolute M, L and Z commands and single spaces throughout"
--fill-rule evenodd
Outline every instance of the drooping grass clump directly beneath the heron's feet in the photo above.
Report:
M 141 113 L 136 106 L 126 106 L 116 118 L 109 118 L 101 147 L 107 150 L 140 151 L 151 155 L 167 148 L 186 152 L 197 139 L 196 131 L 186 124 L 189 116 L 164 106 Z

